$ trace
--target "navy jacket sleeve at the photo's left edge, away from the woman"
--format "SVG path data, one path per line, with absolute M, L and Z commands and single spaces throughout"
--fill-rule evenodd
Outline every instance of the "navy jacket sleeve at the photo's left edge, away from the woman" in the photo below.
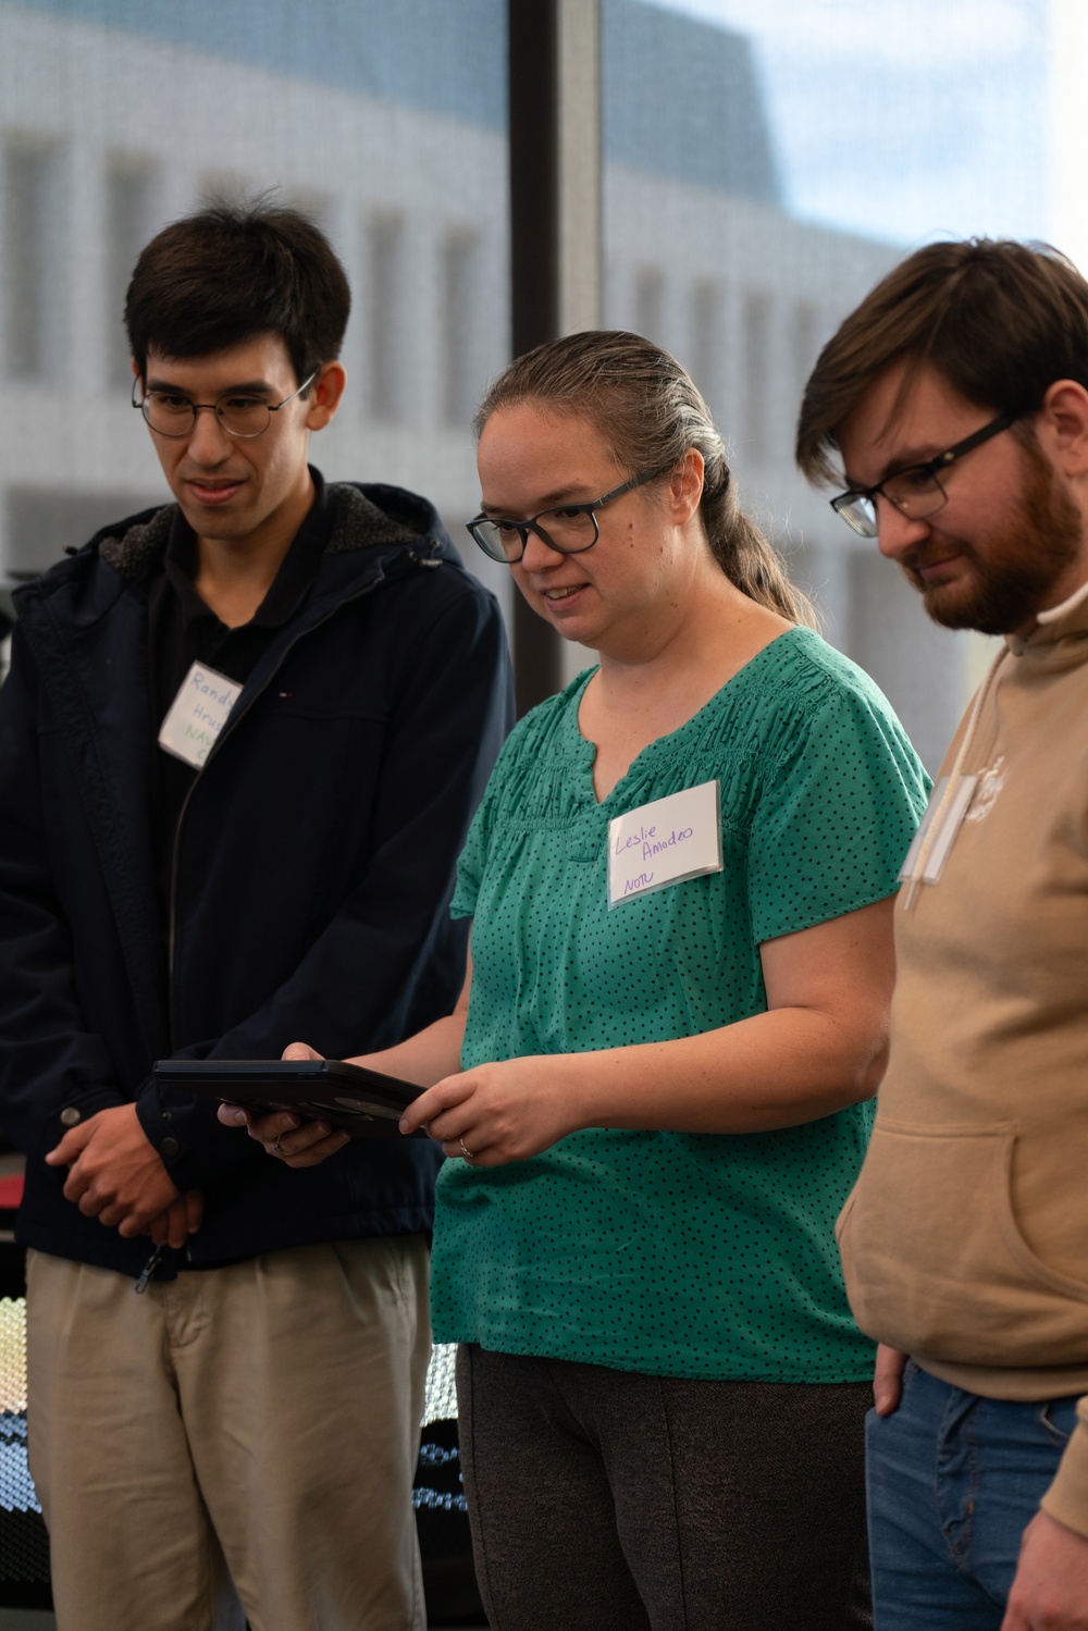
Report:
M 80 1008 L 51 879 L 38 732 L 38 680 L 16 626 L 0 687 L 0 1127 L 28 1156 L 127 1098 Z

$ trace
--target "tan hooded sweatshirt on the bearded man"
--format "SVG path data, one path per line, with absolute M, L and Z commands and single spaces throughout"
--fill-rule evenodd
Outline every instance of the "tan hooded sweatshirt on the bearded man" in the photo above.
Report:
M 956 765 L 979 780 L 943 873 L 896 907 L 847 1288 L 863 1331 L 944 1381 L 1088 1395 L 1088 584 L 1006 639 Z M 1042 1504 L 1088 1536 L 1085 1398 L 1078 1417 Z

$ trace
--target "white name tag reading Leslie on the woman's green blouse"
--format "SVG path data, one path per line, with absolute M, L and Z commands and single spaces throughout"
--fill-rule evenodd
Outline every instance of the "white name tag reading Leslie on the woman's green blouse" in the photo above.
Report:
M 648 895 L 685 877 L 721 871 L 716 781 L 639 804 L 608 822 L 608 905 Z

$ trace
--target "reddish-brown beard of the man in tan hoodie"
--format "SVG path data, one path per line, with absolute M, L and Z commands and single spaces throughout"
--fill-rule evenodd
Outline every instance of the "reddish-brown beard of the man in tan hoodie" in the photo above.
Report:
M 1024 491 L 1008 527 L 992 533 L 984 551 L 956 538 L 956 553 L 974 568 L 969 582 L 930 584 L 915 563 L 902 564 L 928 617 L 941 628 L 975 628 L 982 634 L 1023 628 L 1081 556 L 1081 512 L 1037 447 L 1026 444 L 1024 457 Z

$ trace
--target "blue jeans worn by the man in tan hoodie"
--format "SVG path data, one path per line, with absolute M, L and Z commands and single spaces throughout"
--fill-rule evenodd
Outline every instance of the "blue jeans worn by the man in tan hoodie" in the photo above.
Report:
M 907 1362 L 899 1409 L 866 1417 L 874 1631 L 998 1631 L 1075 1424 L 1075 1396 L 984 1399 Z

